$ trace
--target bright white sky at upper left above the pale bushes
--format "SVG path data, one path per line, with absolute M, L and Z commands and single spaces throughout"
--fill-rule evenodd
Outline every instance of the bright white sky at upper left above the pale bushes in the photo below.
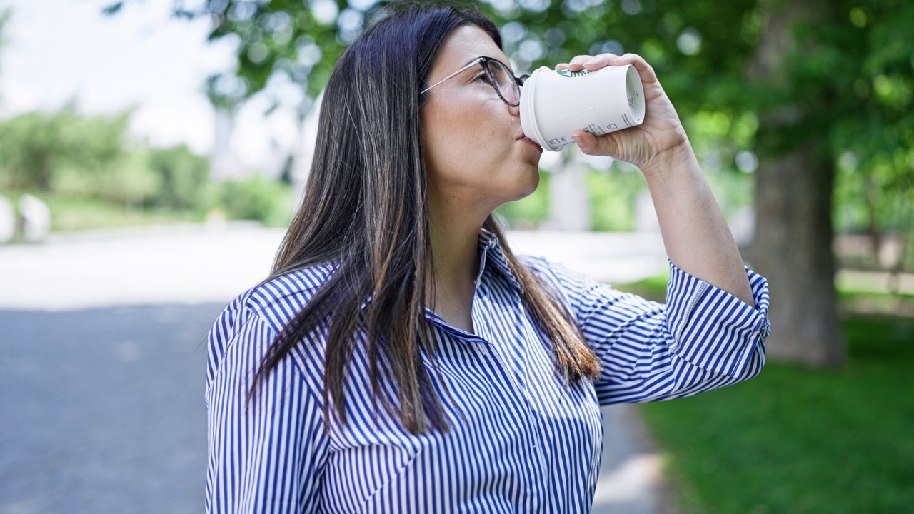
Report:
M 71 99 L 86 114 L 135 107 L 131 133 L 152 145 L 186 143 L 208 155 L 214 114 L 207 75 L 230 70 L 233 45 L 208 44 L 209 21 L 170 17 L 172 0 L 0 0 L 12 8 L 0 49 L 0 117 L 53 111 Z M 239 112 L 232 148 L 244 164 L 274 169 L 294 138 L 290 112 L 265 119 L 266 101 Z

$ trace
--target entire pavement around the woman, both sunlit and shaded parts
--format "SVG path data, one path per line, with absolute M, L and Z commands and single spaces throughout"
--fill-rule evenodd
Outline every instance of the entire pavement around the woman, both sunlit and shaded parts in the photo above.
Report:
M 0 247 L 0 514 L 199 512 L 203 337 L 281 238 L 240 224 Z M 509 238 L 610 282 L 664 265 L 655 234 Z M 603 413 L 593 513 L 658 512 L 659 459 L 632 407 Z

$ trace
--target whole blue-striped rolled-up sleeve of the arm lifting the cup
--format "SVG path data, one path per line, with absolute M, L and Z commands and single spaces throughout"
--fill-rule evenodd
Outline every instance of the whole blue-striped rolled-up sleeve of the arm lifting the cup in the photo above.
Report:
M 600 359 L 594 389 L 601 404 L 682 398 L 749 379 L 764 366 L 768 283 L 749 268 L 755 307 L 672 262 L 665 305 L 530 262 L 558 287 Z

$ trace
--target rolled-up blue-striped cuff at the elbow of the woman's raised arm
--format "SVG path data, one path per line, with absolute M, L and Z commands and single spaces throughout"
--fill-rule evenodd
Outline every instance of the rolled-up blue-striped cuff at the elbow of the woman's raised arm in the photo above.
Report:
M 739 377 L 755 351 L 764 357 L 768 321 L 768 281 L 746 268 L 756 307 L 723 289 L 685 273 L 673 262 L 666 286 L 666 323 L 671 350 L 693 365 Z

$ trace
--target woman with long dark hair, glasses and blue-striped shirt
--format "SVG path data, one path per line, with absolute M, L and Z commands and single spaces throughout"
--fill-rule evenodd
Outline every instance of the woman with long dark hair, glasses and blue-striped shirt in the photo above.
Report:
M 667 304 L 509 250 L 492 212 L 537 187 L 542 150 L 507 63 L 491 21 L 430 5 L 337 63 L 271 278 L 210 333 L 208 511 L 588 512 L 600 404 L 760 371 L 767 285 L 637 56 L 559 67 L 641 74 L 642 125 L 575 139 L 643 171 Z

